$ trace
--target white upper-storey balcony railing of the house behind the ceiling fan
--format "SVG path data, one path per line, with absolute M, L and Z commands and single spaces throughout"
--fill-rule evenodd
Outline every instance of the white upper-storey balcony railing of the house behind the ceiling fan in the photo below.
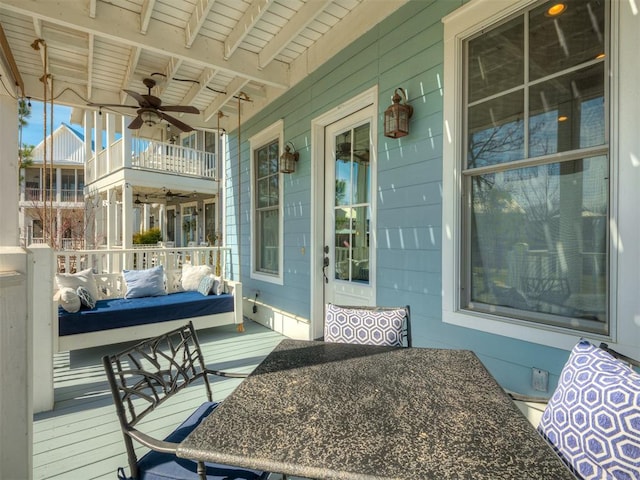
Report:
M 126 155 L 125 152 L 130 154 Z M 87 161 L 87 183 L 100 180 L 122 168 L 168 172 L 185 177 L 218 178 L 214 153 L 142 138 L 120 138 Z

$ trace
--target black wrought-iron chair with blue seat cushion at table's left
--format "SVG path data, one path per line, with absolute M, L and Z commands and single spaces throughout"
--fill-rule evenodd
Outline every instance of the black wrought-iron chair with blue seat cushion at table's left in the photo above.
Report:
M 246 374 L 210 370 L 205 366 L 191 322 L 102 359 L 116 413 L 124 436 L 131 477 L 124 469 L 118 478 L 135 480 L 208 479 L 265 480 L 268 473 L 226 465 L 195 462 L 175 455 L 178 444 L 216 407 L 212 401 L 210 375 L 243 378 Z M 139 422 L 176 393 L 198 382 L 207 401 L 164 440 L 138 429 Z M 196 387 L 194 387 L 196 388 Z M 220 432 L 224 435 L 224 432 Z M 150 449 L 140 459 L 134 441 Z

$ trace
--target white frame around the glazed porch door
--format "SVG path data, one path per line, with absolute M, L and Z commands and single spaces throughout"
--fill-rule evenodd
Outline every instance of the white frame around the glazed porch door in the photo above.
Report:
M 311 121 L 311 328 L 309 338 L 320 338 L 324 329 L 324 285 L 322 276 L 322 262 L 324 258 L 324 216 L 325 216 L 325 128 L 348 117 L 349 115 L 372 106 L 375 115 L 371 119 L 371 132 L 374 138 L 376 155 L 378 135 L 378 86 L 365 90 L 361 94 L 345 100 L 337 107 L 314 118 Z M 373 186 L 372 186 L 373 187 Z M 375 190 L 372 190 L 372 203 Z M 375 210 L 373 211 L 375 214 Z M 374 243 L 375 248 L 375 243 Z

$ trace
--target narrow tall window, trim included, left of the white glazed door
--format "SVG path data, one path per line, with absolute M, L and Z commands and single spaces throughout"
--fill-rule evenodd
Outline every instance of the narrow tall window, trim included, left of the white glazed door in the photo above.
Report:
M 282 281 L 282 185 L 278 162 L 282 122 L 249 141 L 252 151 L 251 275 L 265 281 Z

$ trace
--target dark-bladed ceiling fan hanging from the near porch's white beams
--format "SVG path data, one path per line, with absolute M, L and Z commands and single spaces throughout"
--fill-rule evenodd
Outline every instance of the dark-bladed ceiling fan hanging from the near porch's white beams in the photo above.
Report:
M 157 123 L 160 123 L 161 120 L 166 120 L 171 125 L 182 130 L 183 132 L 191 132 L 193 130 L 193 127 L 187 125 L 186 123 L 178 120 L 175 117 L 172 117 L 171 115 L 167 115 L 165 112 L 198 114 L 200 113 L 200 110 L 190 105 L 162 105 L 162 100 L 160 100 L 160 98 L 151 95 L 151 89 L 156 86 L 156 81 L 153 78 L 145 78 L 142 80 L 142 83 L 144 83 L 144 85 L 147 87 L 148 93 L 146 95 L 134 92 L 133 90 L 123 90 L 123 92 L 125 92 L 130 97 L 133 97 L 136 102 L 138 102 L 137 107 L 134 105 L 120 104 L 90 103 L 89 105 L 95 107 L 137 108 L 137 116 L 133 119 L 128 127 L 132 130 L 137 130 L 142 127 L 142 125 L 151 127 Z

